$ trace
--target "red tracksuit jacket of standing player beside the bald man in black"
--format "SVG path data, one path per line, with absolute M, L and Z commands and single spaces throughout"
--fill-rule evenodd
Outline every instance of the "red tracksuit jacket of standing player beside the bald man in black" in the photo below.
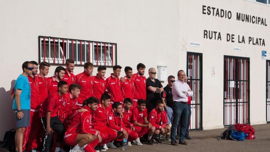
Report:
M 132 75 L 135 85 L 134 101 L 138 99 L 146 99 L 146 77 L 140 76 L 139 73 Z

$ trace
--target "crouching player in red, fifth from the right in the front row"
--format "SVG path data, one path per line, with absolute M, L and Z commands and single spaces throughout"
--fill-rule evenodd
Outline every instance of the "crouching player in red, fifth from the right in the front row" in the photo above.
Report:
M 116 148 L 114 144 L 111 142 L 117 137 L 117 132 L 109 127 L 107 127 L 107 115 L 111 110 L 110 106 L 110 95 L 103 94 L 101 96 L 101 104 L 99 105 L 98 109 L 94 112 L 95 115 L 95 124 L 94 128 L 104 134 L 104 136 L 108 136 L 102 142 L 102 144 L 106 144 L 110 148 Z M 100 147 L 102 148 L 102 147 Z

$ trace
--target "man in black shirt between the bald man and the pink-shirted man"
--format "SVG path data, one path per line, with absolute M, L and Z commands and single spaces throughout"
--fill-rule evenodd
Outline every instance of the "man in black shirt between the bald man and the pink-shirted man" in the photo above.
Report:
M 173 105 L 173 99 L 172 99 L 172 84 L 175 82 L 174 76 L 168 76 L 168 84 L 166 87 L 164 87 L 164 92 L 161 93 L 162 101 L 164 103 L 164 108 L 167 112 L 167 118 L 168 123 L 167 125 L 170 125 L 173 119 L 173 111 L 172 111 L 172 105 Z M 170 141 L 170 135 L 167 133 L 166 140 Z

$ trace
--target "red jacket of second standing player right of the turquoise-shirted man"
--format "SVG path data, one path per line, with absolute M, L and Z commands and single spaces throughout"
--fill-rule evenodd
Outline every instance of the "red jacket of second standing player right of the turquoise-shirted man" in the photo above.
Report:
M 48 97 L 48 81 L 46 77 L 44 77 L 43 79 L 39 74 L 36 74 L 36 76 L 38 78 L 40 102 L 42 104 L 44 100 Z

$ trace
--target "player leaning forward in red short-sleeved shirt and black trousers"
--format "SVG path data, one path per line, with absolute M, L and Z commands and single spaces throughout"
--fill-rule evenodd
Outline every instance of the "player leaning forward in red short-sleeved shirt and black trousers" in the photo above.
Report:
M 40 107 L 39 115 L 41 117 L 41 122 L 46 132 L 43 143 L 43 152 L 48 152 L 50 150 L 53 137 L 52 129 L 56 130 L 57 132 L 55 152 L 60 151 L 60 145 L 63 141 L 64 136 L 64 126 L 59 117 L 57 116 L 57 111 L 60 104 L 66 102 L 63 101 L 66 100 L 64 97 L 65 94 L 67 94 L 67 82 L 61 80 L 58 82 L 57 92 L 50 94 Z

